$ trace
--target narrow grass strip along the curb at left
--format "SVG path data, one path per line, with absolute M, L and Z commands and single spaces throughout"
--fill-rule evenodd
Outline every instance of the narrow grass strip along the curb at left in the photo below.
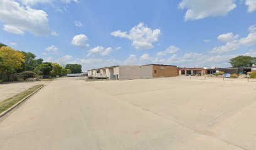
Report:
M 42 86 L 43 86 L 43 84 L 38 84 L 38 85 L 34 86 L 33 88 L 30 88 L 30 89 L 24 91 L 23 93 L 19 93 L 19 94 L 13 96 L 12 98 L 9 98 L 9 99 L 6 99 L 6 100 L 0 102 L 0 114 L 3 113 L 4 111 L 6 111 L 7 109 L 11 108 L 11 106 L 13 106 L 14 104 L 17 104 L 19 101 L 26 98 L 26 96 L 33 93 L 34 91 L 41 88 Z

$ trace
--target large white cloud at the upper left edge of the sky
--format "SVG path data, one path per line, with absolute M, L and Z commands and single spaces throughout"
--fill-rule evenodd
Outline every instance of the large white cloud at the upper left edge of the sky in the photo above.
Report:
M 45 11 L 21 6 L 16 1 L 0 0 L 0 21 L 3 29 L 14 34 L 24 34 L 28 31 L 36 36 L 51 33 L 48 24 L 48 14 Z

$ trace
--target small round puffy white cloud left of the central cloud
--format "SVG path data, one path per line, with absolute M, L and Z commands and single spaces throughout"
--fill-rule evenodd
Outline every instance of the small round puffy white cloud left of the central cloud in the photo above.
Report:
M 87 41 L 88 41 L 88 37 L 85 36 L 85 34 L 79 34 L 79 35 L 73 37 L 71 44 L 73 46 L 77 46 L 82 49 L 88 49 L 90 47 L 90 45 L 87 44 Z

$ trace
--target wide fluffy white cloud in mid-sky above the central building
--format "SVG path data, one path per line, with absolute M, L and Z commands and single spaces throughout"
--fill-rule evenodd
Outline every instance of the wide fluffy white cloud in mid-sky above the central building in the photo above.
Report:
M 154 47 L 152 43 L 158 41 L 158 37 L 161 34 L 160 29 L 154 29 L 144 26 L 143 22 L 140 22 L 137 26 L 132 27 L 128 32 L 122 32 L 120 30 L 111 32 L 112 36 L 126 38 L 132 41 L 132 46 L 136 49 L 152 49 Z

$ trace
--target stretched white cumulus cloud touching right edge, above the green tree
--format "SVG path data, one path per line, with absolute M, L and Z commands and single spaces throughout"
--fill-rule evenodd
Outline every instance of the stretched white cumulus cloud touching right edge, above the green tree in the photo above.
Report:
M 248 28 L 249 34 L 247 37 L 238 39 L 238 35 L 233 35 L 232 32 L 227 34 L 221 34 L 218 36 L 218 40 L 226 42 L 224 46 L 214 47 L 210 53 L 227 53 L 230 51 L 236 51 L 241 46 L 253 46 L 256 45 L 256 25 Z

